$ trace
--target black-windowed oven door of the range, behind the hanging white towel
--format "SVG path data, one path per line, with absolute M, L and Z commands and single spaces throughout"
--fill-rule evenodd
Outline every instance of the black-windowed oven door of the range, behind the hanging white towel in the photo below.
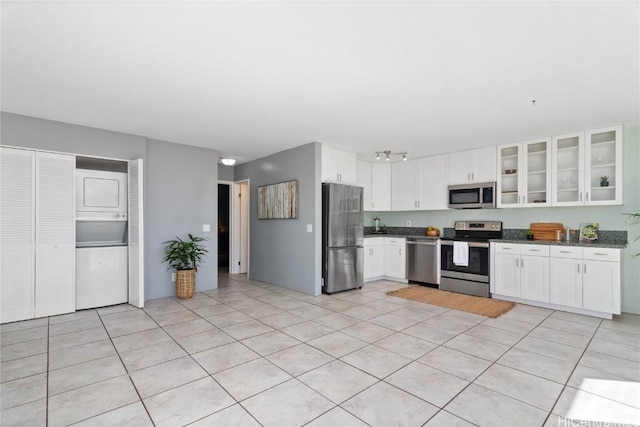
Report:
M 442 277 L 489 283 L 489 243 L 468 242 L 469 265 L 453 263 L 453 241 L 443 240 L 440 250 Z

